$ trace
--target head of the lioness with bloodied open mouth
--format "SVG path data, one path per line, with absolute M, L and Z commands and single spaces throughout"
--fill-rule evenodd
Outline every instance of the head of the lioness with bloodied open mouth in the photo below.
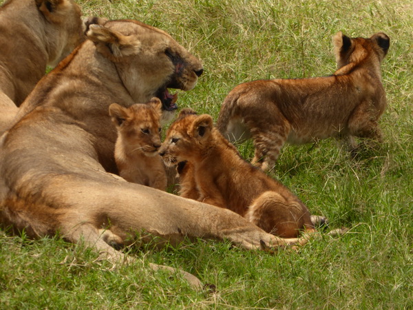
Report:
M 191 90 L 203 71 L 202 63 L 169 34 L 139 21 L 90 25 L 87 37 L 114 63 L 135 102 L 156 96 L 167 112 L 177 108 L 168 88 Z

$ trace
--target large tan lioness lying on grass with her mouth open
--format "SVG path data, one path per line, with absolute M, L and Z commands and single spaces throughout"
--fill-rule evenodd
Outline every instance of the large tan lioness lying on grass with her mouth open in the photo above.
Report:
M 191 90 L 202 64 L 169 34 L 139 21 L 90 25 L 87 37 L 41 79 L 0 139 L 2 227 L 25 229 L 33 238 L 60 231 L 115 262 L 124 256 L 103 237 L 123 243 L 142 230 L 172 243 L 215 238 L 246 249 L 301 242 L 267 234 L 230 210 L 109 173 L 116 172 L 109 105 L 129 107 L 158 96 L 171 107 L 167 87 Z

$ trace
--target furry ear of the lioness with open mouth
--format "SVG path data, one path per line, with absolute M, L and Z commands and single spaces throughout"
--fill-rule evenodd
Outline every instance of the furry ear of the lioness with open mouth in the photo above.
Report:
M 89 25 L 86 35 L 96 45 L 98 52 L 112 61 L 140 52 L 141 43 L 136 37 L 125 36 L 102 25 Z

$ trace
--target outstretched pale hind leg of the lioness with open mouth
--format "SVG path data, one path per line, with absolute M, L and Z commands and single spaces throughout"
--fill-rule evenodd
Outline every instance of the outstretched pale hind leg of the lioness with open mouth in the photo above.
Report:
M 146 231 L 151 236 L 173 244 L 178 244 L 185 236 L 228 239 L 246 249 L 262 249 L 263 243 L 268 247 L 277 247 L 299 242 L 296 238 L 283 239 L 266 234 L 228 209 L 167 194 L 151 187 L 126 183 L 111 176 L 103 181 L 102 173 L 98 174 L 99 182 L 59 176 L 59 181 L 50 180 L 50 184 L 59 182 L 64 185 L 59 188 L 59 194 L 53 186 L 45 189 L 47 192 L 50 190 L 50 195 L 53 193 L 54 197 L 59 197 L 59 200 L 53 201 L 56 205 L 71 206 L 61 216 L 61 223 L 70 223 L 65 225 L 66 231 L 75 228 L 71 233 L 74 234 L 75 241 L 80 235 L 85 235 L 85 240 L 90 235 L 94 242 L 100 238 L 98 229 L 106 227 L 123 240 Z M 87 205 L 87 209 L 83 205 Z M 91 226 L 85 223 L 90 223 Z M 92 227 L 97 228 L 94 231 Z M 106 245 L 102 246 L 103 250 L 107 249 Z M 110 250 L 109 254 L 112 253 Z

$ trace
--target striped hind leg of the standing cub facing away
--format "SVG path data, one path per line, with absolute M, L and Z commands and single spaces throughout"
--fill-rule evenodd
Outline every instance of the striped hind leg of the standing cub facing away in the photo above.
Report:
M 290 124 L 284 116 L 277 115 L 275 119 L 248 121 L 248 127 L 251 129 L 255 147 L 252 163 L 263 171 L 268 171 L 277 161 L 279 151 L 287 141 Z

